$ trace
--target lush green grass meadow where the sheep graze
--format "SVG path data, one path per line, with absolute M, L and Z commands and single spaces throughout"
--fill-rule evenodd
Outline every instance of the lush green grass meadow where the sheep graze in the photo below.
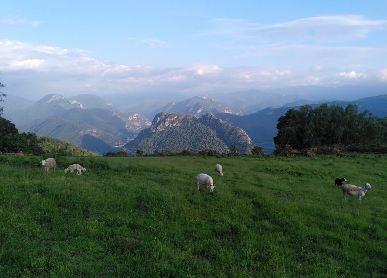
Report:
M 387 276 L 386 155 L 2 161 L 0 277 Z M 361 205 L 341 176 L 371 184 Z

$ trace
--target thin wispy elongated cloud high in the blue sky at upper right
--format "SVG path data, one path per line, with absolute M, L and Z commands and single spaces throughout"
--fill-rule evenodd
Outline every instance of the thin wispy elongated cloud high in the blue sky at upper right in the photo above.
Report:
M 341 14 L 307 17 L 278 24 L 263 25 L 236 19 L 212 20 L 211 34 L 238 41 L 317 41 L 362 40 L 375 30 L 387 29 L 387 20 L 370 20 L 361 15 Z

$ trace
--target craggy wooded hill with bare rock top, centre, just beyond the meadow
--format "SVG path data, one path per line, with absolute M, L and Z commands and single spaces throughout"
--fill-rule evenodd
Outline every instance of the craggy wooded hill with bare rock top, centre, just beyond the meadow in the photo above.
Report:
M 211 113 L 200 119 L 195 115 L 159 113 L 149 128 L 142 130 L 123 148 L 129 154 L 134 154 L 137 149 L 147 153 L 153 153 L 155 149 L 172 152 L 213 149 L 224 153 L 229 152 L 232 144 L 243 153 L 249 153 L 252 148 L 251 139 L 245 131 L 224 123 Z

